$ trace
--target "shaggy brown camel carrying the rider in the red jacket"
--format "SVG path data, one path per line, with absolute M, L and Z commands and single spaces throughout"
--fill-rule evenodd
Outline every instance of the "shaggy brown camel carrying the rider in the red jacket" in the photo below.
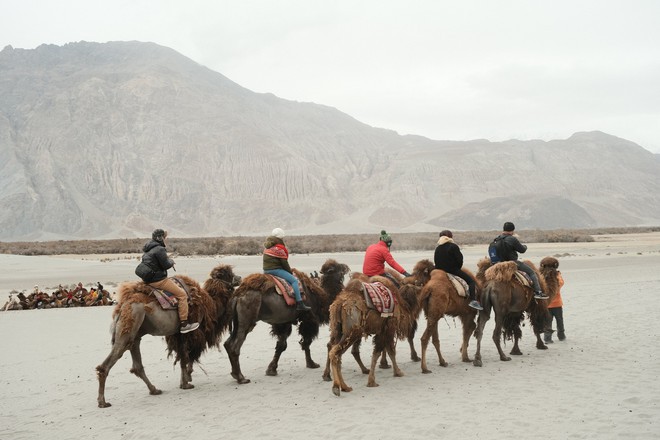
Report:
M 412 310 L 417 307 L 419 287 L 403 284 L 397 289 L 394 283 L 381 276 L 371 277 L 369 282 L 378 281 L 387 286 L 395 296 L 396 307 L 393 315 L 382 317 L 379 312 L 370 309 L 364 299 L 362 281 L 351 280 L 330 306 L 330 351 L 328 357 L 332 371 L 332 392 L 339 396 L 341 391 L 352 391 L 341 373 L 341 357 L 363 336 L 373 335 L 374 351 L 369 368 L 368 387 L 376 387 L 375 366 L 383 350 L 392 360 L 395 377 L 403 376 L 403 371 L 396 363 L 396 339 L 403 339 L 410 333 L 415 321 Z

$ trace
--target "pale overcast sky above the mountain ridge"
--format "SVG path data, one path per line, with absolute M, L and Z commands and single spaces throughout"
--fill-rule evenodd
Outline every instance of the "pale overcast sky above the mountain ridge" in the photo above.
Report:
M 660 153 L 660 1 L 0 0 L 0 45 L 150 41 L 432 139 L 600 130 Z

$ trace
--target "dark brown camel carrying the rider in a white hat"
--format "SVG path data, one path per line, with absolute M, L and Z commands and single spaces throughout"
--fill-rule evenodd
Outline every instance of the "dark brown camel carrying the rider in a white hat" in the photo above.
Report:
M 225 350 L 231 362 L 231 375 L 240 384 L 249 383 L 241 372 L 241 347 L 248 333 L 258 321 L 271 325 L 271 334 L 277 337 L 275 355 L 266 369 L 267 376 L 276 376 L 280 356 L 287 348 L 287 338 L 292 325 L 298 324 L 301 336 L 300 345 L 305 352 L 307 368 L 318 368 L 312 360 L 309 346 L 318 337 L 319 326 L 329 321 L 330 304 L 344 288 L 344 276 L 350 271 L 347 265 L 333 259 L 327 260 L 321 268 L 320 283 L 306 274 L 293 269 L 301 282 L 301 293 L 305 303 L 312 308 L 309 312 L 299 312 L 288 306 L 284 298 L 275 291 L 271 278 L 255 273 L 247 276 L 236 289 L 231 302 L 232 323 Z

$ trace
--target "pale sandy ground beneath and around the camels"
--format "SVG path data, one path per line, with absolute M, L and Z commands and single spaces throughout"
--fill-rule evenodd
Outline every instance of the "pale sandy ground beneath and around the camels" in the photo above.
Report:
M 524 241 L 524 237 L 522 237 Z M 295 252 L 295 250 L 293 250 Z M 483 246 L 463 249 L 476 270 Z M 432 254 L 397 252 L 406 269 Z M 410 361 L 407 344 L 398 346 L 405 376 L 378 370 L 378 388 L 367 388 L 350 355 L 343 371 L 354 391 L 335 397 L 322 371 L 307 369 L 291 337 L 279 376 L 265 376 L 275 341 L 260 323 L 241 353 L 243 373 L 252 383 L 238 385 L 229 375 L 224 350 L 210 351 L 193 374 L 195 389 L 181 390 L 178 366 L 166 357 L 163 338 L 147 336 L 143 361 L 163 394 L 150 396 L 128 372 L 130 355 L 115 365 L 106 399 L 97 408 L 94 367 L 110 350 L 112 307 L 10 311 L 0 313 L 1 439 L 548 439 L 660 438 L 660 234 L 597 237 L 593 243 L 531 244 L 525 257 L 538 263 L 560 260 L 567 340 L 536 350 L 529 325 L 523 328 L 523 355 L 501 362 L 490 339 L 482 348 L 484 366 L 460 360 L 460 324 L 440 322 L 438 365 L 429 352 L 432 374 Z M 294 267 L 318 270 L 328 257 L 361 270 L 361 253 L 291 256 Z M 134 279 L 136 256 L 22 257 L 0 255 L 0 305 L 9 291 L 48 290 L 59 283 L 101 281 L 109 290 Z M 202 282 L 218 263 L 239 275 L 260 271 L 260 257 L 178 258 L 179 273 Z M 424 318 L 420 327 L 425 326 Z M 421 333 L 419 333 L 421 334 Z M 418 336 L 419 336 L 418 334 Z M 327 328 L 312 344 L 324 363 Z M 419 339 L 416 341 L 419 351 Z M 509 351 L 511 343 L 505 346 Z M 371 344 L 362 347 L 370 357 Z M 474 353 L 474 343 L 470 354 Z

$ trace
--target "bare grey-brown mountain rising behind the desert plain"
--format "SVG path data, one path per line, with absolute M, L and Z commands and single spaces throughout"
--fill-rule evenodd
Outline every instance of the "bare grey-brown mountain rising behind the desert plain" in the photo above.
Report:
M 660 224 L 624 139 L 400 136 L 141 42 L 0 52 L 0 188 L 10 241 Z

